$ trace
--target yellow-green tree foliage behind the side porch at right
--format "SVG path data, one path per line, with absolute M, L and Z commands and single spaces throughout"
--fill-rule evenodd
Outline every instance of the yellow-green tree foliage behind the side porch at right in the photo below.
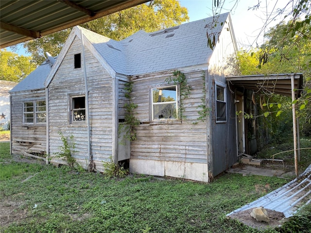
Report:
M 306 128 L 311 123 L 309 122 L 311 119 L 311 32 L 310 24 L 302 22 L 290 20 L 271 28 L 266 33 L 267 41 L 261 48 L 250 51 L 241 50 L 238 52 L 238 59 L 243 75 L 303 73 L 304 90 L 297 103 L 302 128 Z M 303 27 L 295 33 L 289 33 L 289 28 L 294 27 L 295 24 L 303 25 Z M 265 56 L 264 59 L 262 59 L 263 56 Z M 286 121 L 286 119 L 291 118 L 292 100 L 267 93 L 266 96 L 265 104 L 262 103 L 264 104 L 262 113 L 270 113 L 265 116 L 268 116 L 271 131 L 277 135 L 286 126 L 286 122 L 291 127 L 292 121 Z

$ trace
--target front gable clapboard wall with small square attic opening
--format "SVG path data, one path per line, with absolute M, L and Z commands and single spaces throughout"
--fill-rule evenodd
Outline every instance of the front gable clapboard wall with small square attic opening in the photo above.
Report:
M 74 54 L 81 53 L 81 68 L 74 68 Z M 104 67 L 85 48 L 86 74 L 89 99 L 91 154 L 97 170 L 103 170 L 103 161 L 112 156 L 113 130 L 113 86 L 112 78 Z M 61 65 L 49 84 L 49 147 L 52 163 L 64 163 L 53 153 L 62 146 L 59 132 L 64 136 L 74 136 L 76 143 L 73 157 L 87 168 L 88 139 L 86 121 L 70 123 L 70 95 L 85 95 L 84 62 L 81 42 L 77 37 L 71 44 Z

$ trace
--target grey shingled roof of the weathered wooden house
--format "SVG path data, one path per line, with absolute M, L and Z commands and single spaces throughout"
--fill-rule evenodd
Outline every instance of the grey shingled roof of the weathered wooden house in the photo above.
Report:
M 229 13 L 225 13 L 153 33 L 138 31 L 121 41 L 79 26 L 74 27 L 72 33 L 81 31 L 115 73 L 131 76 L 196 65 L 208 66 L 213 50 L 207 46 L 207 33 L 215 33 L 217 41 L 228 17 Z M 206 28 L 206 25 L 209 26 Z M 47 60 L 10 93 L 45 88 L 49 83 L 46 80 L 52 76 L 50 71 Z

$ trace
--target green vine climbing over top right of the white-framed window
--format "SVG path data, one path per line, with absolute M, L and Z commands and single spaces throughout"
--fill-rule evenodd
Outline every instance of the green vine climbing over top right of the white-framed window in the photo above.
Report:
M 173 83 L 174 85 L 179 85 L 180 91 L 180 106 L 178 108 L 178 119 L 185 119 L 184 116 L 185 107 L 183 100 L 187 99 L 190 94 L 191 86 L 187 83 L 186 75 L 179 70 L 173 72 L 173 77 L 168 77 L 165 79 L 168 84 Z

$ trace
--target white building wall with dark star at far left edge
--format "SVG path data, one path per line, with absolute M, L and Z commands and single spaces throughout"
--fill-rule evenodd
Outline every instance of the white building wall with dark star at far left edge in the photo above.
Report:
M 0 80 L 0 128 L 7 129 L 7 124 L 10 121 L 10 94 L 9 91 L 16 85 L 15 82 Z

